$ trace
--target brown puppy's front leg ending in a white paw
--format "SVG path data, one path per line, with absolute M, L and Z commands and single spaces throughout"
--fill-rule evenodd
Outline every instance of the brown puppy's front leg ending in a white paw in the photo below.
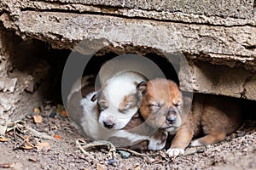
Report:
M 171 148 L 166 151 L 170 157 L 176 157 L 184 154 L 185 148 L 189 145 L 189 142 L 193 138 L 193 128 L 183 124 L 183 126 L 177 131 L 174 139 L 172 140 Z

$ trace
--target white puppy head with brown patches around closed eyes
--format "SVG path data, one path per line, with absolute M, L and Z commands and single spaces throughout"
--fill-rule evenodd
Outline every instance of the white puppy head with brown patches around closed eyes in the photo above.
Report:
M 130 76 L 121 75 L 110 79 L 92 98 L 92 100 L 97 99 L 100 111 L 98 121 L 102 127 L 124 128 L 137 113 L 147 86 L 143 78 L 134 80 Z

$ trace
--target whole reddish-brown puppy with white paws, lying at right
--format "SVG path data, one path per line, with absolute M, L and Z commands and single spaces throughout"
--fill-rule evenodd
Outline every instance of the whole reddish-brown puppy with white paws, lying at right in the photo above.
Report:
M 228 133 L 241 126 L 241 111 L 237 101 L 209 94 L 194 95 L 192 108 L 182 125 L 180 122 L 183 117 L 183 102 L 180 91 L 174 82 L 168 81 L 167 84 L 168 88 L 165 88 L 164 79 L 148 82 L 148 91 L 144 95 L 141 112 L 145 113 L 143 117 L 148 117 L 147 122 L 150 124 L 165 128 L 171 133 L 178 129 L 171 148 L 166 151 L 169 156 L 183 154 L 194 136 L 205 134 L 204 137 L 192 141 L 191 146 L 214 144 L 224 140 Z

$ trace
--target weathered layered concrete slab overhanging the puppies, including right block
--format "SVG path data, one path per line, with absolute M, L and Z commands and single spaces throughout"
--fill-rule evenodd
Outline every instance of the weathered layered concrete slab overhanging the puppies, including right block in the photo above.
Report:
M 178 72 L 182 89 L 256 100 L 253 3 L 2 0 L 0 11 L 6 29 L 24 40 L 49 42 L 53 48 L 73 49 L 85 39 L 100 40 L 118 54 L 145 49 L 161 54 L 182 51 L 193 77 L 188 78 L 186 69 Z M 95 52 L 99 47 L 90 44 L 90 49 Z M 12 81 L 9 83 L 15 83 L 15 79 Z

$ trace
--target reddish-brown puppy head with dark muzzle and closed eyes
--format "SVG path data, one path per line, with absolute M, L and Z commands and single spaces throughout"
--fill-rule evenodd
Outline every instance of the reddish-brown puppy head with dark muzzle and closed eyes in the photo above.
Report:
M 183 123 L 182 108 L 182 94 L 175 82 L 163 78 L 148 82 L 140 112 L 150 126 L 176 133 Z

